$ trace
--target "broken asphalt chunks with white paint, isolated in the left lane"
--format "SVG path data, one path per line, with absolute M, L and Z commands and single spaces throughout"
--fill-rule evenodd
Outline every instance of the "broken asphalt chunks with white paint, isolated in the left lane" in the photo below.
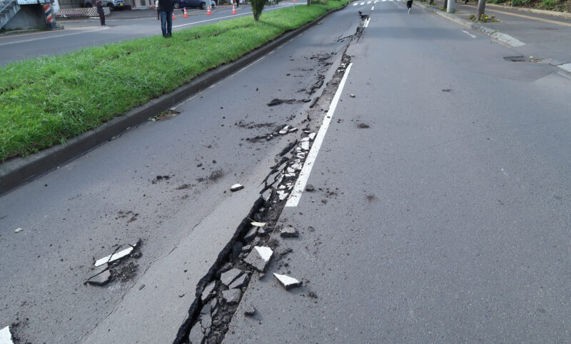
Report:
M 131 280 L 138 270 L 138 265 L 129 258 L 141 258 L 141 239 L 134 244 L 117 246 L 108 256 L 95 260 L 94 269 L 86 276 L 84 284 L 106 285 L 116 279 L 121 282 Z

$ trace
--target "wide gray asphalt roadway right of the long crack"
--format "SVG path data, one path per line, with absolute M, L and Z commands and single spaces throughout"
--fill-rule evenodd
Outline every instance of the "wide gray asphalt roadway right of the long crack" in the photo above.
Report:
M 226 343 L 571 341 L 569 79 L 462 30 L 375 4 L 315 191 L 279 221 L 300 238 Z

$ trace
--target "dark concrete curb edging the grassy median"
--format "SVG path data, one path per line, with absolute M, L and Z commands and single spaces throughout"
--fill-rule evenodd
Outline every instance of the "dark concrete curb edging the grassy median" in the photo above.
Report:
M 201 91 L 216 83 L 216 81 L 224 79 L 226 76 L 229 76 L 244 66 L 251 64 L 253 61 L 256 61 L 256 59 L 268 54 L 273 49 L 278 48 L 278 46 L 285 44 L 290 39 L 293 39 L 293 37 L 317 24 L 326 16 L 335 11 L 345 9 L 345 7 L 346 5 L 340 9 L 332 9 L 323 16 L 320 16 L 318 19 L 310 21 L 308 24 L 305 24 L 298 29 L 286 32 L 273 41 L 269 41 L 260 48 L 241 56 L 235 61 L 218 66 L 211 71 L 207 71 L 206 73 L 197 76 L 188 84 L 184 84 L 176 88 L 176 90 L 171 93 L 163 94 L 163 96 L 151 99 L 148 103 L 133 108 L 130 111 L 127 111 L 124 115 L 103 123 L 98 128 L 82 133 L 75 138 L 71 138 L 64 144 L 46 148 L 39 153 L 35 153 L 26 158 L 15 158 L 14 160 L 1 163 L 0 195 L 21 186 L 27 181 L 31 181 L 37 176 L 41 176 L 44 173 L 52 171 L 57 166 L 71 161 L 74 158 L 79 157 L 81 154 L 96 148 L 106 141 L 109 141 L 113 136 L 118 136 L 118 134 L 126 131 L 127 128 L 141 124 L 148 118 L 161 113 L 161 111 L 171 108 L 173 105 L 183 101 L 193 93 Z

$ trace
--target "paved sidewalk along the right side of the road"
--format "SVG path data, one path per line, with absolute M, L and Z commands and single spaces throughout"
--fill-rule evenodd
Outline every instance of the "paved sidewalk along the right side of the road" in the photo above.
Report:
M 499 21 L 480 23 L 468 20 L 470 14 L 477 13 L 474 2 L 468 5 L 457 2 L 453 14 L 440 10 L 439 7 L 443 4 L 444 1 L 440 0 L 435 1 L 435 5 L 415 2 L 416 6 L 511 46 L 526 59 L 532 56 L 532 59 L 537 59 L 540 63 L 557 66 L 571 73 L 571 14 L 530 13 L 507 6 L 486 4 L 485 13 L 494 14 Z

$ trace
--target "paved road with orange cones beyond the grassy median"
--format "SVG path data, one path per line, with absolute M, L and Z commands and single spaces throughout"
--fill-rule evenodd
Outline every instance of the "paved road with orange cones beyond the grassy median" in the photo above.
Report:
M 266 6 L 264 11 L 275 11 L 292 6 L 284 1 L 277 6 Z M 251 16 L 251 7 L 239 6 L 233 15 L 231 6 L 220 6 L 207 16 L 201 9 L 188 10 L 188 18 L 183 18 L 182 10 L 175 10 L 173 31 L 188 27 L 212 24 L 238 16 Z M 0 66 L 12 61 L 29 59 L 52 54 L 64 54 L 86 46 L 99 46 L 116 41 L 137 39 L 161 34 L 161 21 L 156 19 L 155 10 L 113 11 L 106 17 L 108 26 L 100 26 L 98 18 L 82 20 L 60 20 L 64 30 L 42 31 L 28 34 L 0 36 Z

